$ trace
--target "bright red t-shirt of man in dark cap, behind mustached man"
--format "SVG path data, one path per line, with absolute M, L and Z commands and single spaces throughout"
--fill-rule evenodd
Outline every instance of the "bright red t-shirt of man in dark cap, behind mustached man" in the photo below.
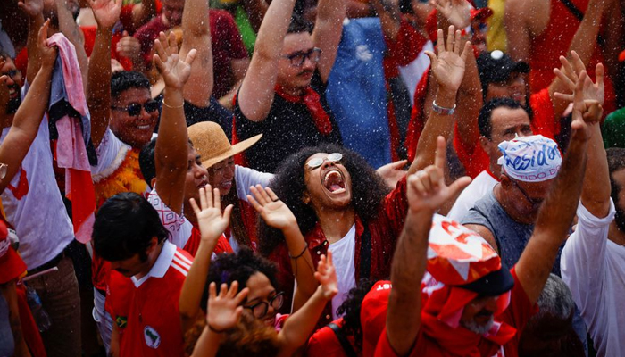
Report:
M 549 96 L 549 89 L 545 88 L 540 92 L 529 96 L 529 107 L 534 112 L 534 119 L 531 121 L 531 128 L 534 134 L 554 139 L 560 133 L 560 121 L 555 118 L 554 103 Z M 464 165 L 467 176 L 474 179 L 483 170 L 487 170 L 490 165 L 488 154 L 478 142 L 467 145 L 460 139 L 458 125 L 454 127 L 454 149 L 458 159 Z

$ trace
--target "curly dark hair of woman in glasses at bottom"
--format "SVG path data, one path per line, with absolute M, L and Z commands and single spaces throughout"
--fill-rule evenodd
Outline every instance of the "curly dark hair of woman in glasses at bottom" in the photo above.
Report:
M 238 290 L 246 287 L 247 280 L 255 273 L 260 272 L 269 278 L 271 285 L 278 287 L 276 280 L 276 265 L 262 256 L 254 253 L 247 246 L 241 246 L 238 253 L 221 253 L 211 262 L 208 270 L 204 295 L 201 300 L 202 310 L 206 311 L 208 302 L 208 286 L 215 283 L 217 288 L 221 284 L 230 286 L 232 282 L 238 282 Z

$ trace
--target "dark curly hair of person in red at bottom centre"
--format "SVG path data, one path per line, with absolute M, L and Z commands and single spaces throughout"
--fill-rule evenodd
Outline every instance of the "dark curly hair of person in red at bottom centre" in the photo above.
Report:
M 341 329 L 346 336 L 354 336 L 354 347 L 358 352 L 362 352 L 362 325 L 360 321 L 362 300 L 374 284 L 374 280 L 360 279 L 358 284 L 349 290 L 346 300 L 337 309 L 337 315 L 343 315 Z

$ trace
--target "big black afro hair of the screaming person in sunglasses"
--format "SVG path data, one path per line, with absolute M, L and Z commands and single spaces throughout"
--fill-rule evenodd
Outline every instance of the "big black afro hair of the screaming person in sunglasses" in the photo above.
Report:
M 379 214 L 379 206 L 389 192 L 389 188 L 371 168 L 360 154 L 338 145 L 322 144 L 305 147 L 296 154 L 287 157 L 279 164 L 275 177 L 269 187 L 287 204 L 297 218 L 297 225 L 305 235 L 317 223 L 317 214 L 312 206 L 302 201 L 306 191 L 304 182 L 304 163 L 313 154 L 340 153 L 341 163 L 352 177 L 352 205 L 363 224 L 375 219 Z M 259 223 L 260 253 L 268 256 L 281 242 L 284 236 L 279 229 L 271 228 L 264 221 Z

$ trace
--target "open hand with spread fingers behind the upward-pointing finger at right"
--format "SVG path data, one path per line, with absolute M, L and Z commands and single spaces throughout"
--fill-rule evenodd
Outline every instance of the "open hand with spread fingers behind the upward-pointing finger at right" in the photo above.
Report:
M 579 58 L 579 54 L 575 51 L 571 51 L 571 62 L 564 57 L 560 56 L 560 62 L 562 62 L 562 70 L 556 68 L 554 69 L 554 73 L 558 76 L 559 79 L 562 80 L 564 84 L 569 87 L 571 92 L 575 91 L 575 87 L 577 85 L 579 74 L 581 71 L 586 70 L 586 65 Z M 602 63 L 596 64 L 595 69 L 596 82 L 593 83 L 592 79 L 588 76 L 584 81 L 583 87 L 583 95 L 584 100 L 594 100 L 597 103 L 603 105 L 605 101 L 605 86 L 604 86 L 604 65 Z M 568 102 L 573 102 L 574 97 L 572 94 L 563 94 L 563 93 L 554 93 L 555 97 L 558 99 L 562 99 Z

